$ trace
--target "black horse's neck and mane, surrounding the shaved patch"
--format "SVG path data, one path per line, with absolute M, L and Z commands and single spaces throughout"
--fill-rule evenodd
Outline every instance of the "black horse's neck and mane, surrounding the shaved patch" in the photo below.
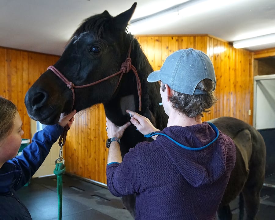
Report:
M 132 52 L 130 58 L 132 65 L 137 69 L 138 76 L 141 82 L 141 111 L 138 111 L 138 92 L 136 77 L 131 70 L 123 76 L 119 85 L 119 91 L 116 96 L 108 103 L 104 104 L 106 116 L 116 125 L 123 125 L 129 121 L 129 116 L 123 115 L 120 108 L 120 100 L 126 95 L 133 95 L 135 102 L 135 111 L 149 118 L 157 128 L 163 129 L 167 126 L 168 117 L 164 112 L 160 97 L 160 85 L 158 83 L 148 83 L 147 76 L 153 71 L 152 66 L 145 54 L 140 49 L 136 39 L 132 41 Z M 127 47 L 127 46 L 126 46 Z M 128 47 L 129 48 L 129 47 Z M 126 48 L 126 50 L 128 50 Z M 130 109 L 132 110 L 132 109 Z

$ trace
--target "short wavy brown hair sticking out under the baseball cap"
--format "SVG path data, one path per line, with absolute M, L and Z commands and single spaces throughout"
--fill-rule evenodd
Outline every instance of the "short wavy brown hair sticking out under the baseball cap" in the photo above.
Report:
M 218 100 L 214 95 L 214 88 L 215 85 L 212 80 L 204 79 L 198 83 L 196 89 L 202 90 L 206 94 L 188 95 L 174 91 L 174 94 L 169 97 L 169 101 L 172 103 L 172 108 L 189 118 L 195 118 L 198 115 L 203 117 L 203 112 L 209 112 L 208 109 Z M 161 90 L 165 91 L 163 83 L 161 84 Z

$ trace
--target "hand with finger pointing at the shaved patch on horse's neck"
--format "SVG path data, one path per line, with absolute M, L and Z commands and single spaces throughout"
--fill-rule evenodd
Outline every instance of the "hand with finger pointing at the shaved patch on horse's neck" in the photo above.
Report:
M 126 112 L 130 114 L 131 123 L 137 127 L 141 134 L 145 135 L 154 131 L 159 131 L 159 129 L 156 129 L 155 126 L 153 126 L 153 124 L 150 122 L 150 120 L 145 116 L 141 116 L 137 112 L 133 112 L 128 109 L 126 110 Z

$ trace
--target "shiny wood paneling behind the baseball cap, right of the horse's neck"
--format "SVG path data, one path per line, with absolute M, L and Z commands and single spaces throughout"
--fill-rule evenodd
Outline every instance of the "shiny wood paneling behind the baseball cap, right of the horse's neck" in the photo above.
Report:
M 189 47 L 202 50 L 213 62 L 217 79 L 215 94 L 218 98 L 211 111 L 204 114 L 203 120 L 232 116 L 252 124 L 253 113 L 248 115 L 249 109 L 253 109 L 252 52 L 235 49 L 228 42 L 209 35 L 138 36 L 138 41 L 142 48 L 143 44 L 146 46 L 148 57 L 154 56 L 154 60 L 150 60 L 154 70 L 160 69 L 167 55 L 176 50 Z M 152 51 L 155 55 L 151 54 Z

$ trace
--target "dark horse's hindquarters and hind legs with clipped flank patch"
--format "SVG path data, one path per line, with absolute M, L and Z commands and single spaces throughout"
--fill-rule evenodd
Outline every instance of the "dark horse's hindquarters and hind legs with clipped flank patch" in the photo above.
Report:
M 232 218 L 231 211 L 228 213 L 226 207 L 242 192 L 247 219 L 254 220 L 259 210 L 260 191 L 264 181 L 265 143 L 253 127 L 239 132 L 233 141 L 236 144 L 236 163 L 222 198 L 218 217 Z M 239 219 L 243 219 L 243 207 L 239 208 Z

